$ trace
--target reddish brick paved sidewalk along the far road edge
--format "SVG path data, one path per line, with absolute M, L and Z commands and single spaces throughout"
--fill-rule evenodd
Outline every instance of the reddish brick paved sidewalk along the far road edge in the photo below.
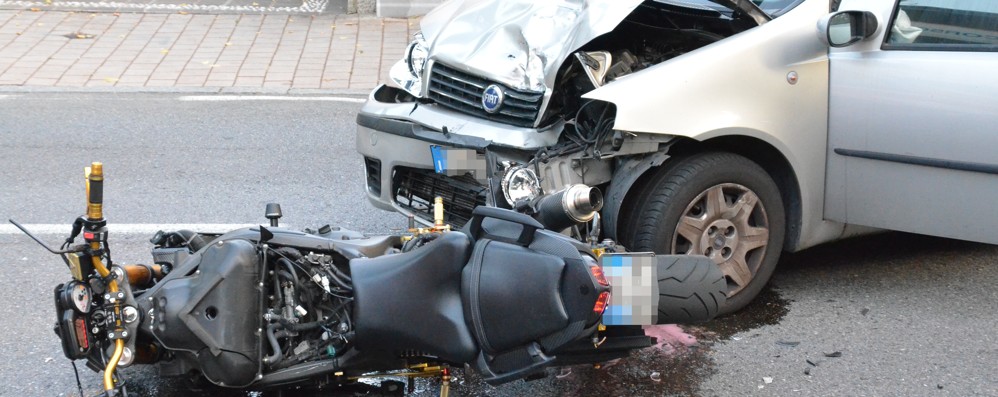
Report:
M 416 30 L 366 15 L 0 11 L 0 89 L 362 92 Z

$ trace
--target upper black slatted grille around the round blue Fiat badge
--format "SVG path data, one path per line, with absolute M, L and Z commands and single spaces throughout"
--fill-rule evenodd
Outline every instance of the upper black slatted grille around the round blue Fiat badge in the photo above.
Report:
M 512 124 L 532 127 L 541 111 L 543 93 L 519 91 L 503 86 L 505 101 L 498 113 L 487 113 L 482 109 L 482 92 L 495 82 L 461 72 L 440 63 L 433 64 L 430 71 L 430 99 L 451 109 L 473 116 Z

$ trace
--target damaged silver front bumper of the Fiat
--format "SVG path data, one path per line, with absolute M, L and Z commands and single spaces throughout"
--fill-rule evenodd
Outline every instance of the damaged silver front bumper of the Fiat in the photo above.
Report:
M 357 151 L 364 156 L 371 203 L 413 215 L 422 223 L 432 222 L 435 197 L 444 198 L 445 221 L 454 225 L 464 224 L 475 206 L 495 205 L 496 174 L 503 171 L 494 167 L 497 157 L 526 159 L 554 145 L 564 127 L 515 127 L 408 99 L 391 86 L 371 93 L 357 115 Z M 439 153 L 469 161 L 451 161 L 444 167 Z M 487 162 L 487 156 L 496 157 Z

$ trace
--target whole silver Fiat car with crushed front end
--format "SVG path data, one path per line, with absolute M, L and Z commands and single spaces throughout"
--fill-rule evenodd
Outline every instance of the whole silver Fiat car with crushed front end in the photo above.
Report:
M 731 312 L 780 253 L 998 243 L 998 2 L 452 0 L 357 118 L 368 197 L 460 225 L 566 186 L 568 231 L 702 254 Z

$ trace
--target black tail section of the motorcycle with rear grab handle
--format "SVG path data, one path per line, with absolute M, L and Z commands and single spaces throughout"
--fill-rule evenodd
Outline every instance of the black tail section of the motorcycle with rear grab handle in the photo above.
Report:
M 462 280 L 465 317 L 481 347 L 473 366 L 492 385 L 542 371 L 550 354 L 591 335 L 598 320 L 589 247 L 548 230 L 529 238 L 536 221 L 499 211 L 476 211 L 483 219 L 466 228 L 479 238 Z

